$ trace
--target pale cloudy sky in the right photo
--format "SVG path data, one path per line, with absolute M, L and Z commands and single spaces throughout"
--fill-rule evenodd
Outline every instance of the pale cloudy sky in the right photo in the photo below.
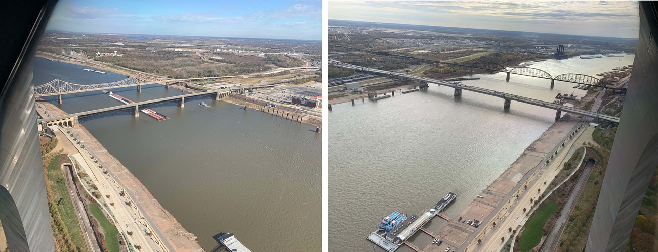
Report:
M 638 38 L 636 1 L 329 1 L 329 18 Z

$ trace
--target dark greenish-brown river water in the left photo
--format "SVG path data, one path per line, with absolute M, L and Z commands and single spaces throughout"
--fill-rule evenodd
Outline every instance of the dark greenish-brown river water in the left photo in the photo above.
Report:
M 124 75 L 86 72 L 75 64 L 37 58 L 34 83 L 55 78 L 106 83 Z M 162 85 L 112 89 L 130 100 L 180 95 Z M 57 104 L 57 96 L 47 100 Z M 199 106 L 204 101 L 209 107 Z M 64 95 L 64 111 L 118 106 L 100 91 Z M 170 117 L 156 121 L 117 113 L 82 125 L 123 165 L 206 251 L 211 236 L 232 232 L 252 251 L 321 251 L 322 137 L 295 123 L 210 97 L 152 106 Z

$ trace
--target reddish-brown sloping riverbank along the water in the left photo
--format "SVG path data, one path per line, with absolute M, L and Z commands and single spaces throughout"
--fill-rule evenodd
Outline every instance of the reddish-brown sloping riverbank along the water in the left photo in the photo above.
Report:
M 45 110 L 51 116 L 66 114 L 66 112 L 49 102 L 38 102 L 38 104 L 40 105 L 38 110 Z M 151 222 L 151 226 L 155 226 L 160 230 L 164 235 L 164 239 L 170 243 L 174 251 L 203 251 L 196 242 L 196 237 L 185 230 L 180 222 L 166 211 L 145 186 L 118 159 L 105 150 L 103 145 L 89 131 L 82 125 L 72 128 L 72 131 L 80 137 L 82 142 L 86 143 L 89 150 L 92 150 L 102 163 L 105 163 L 108 171 L 128 191 L 139 209 L 144 211 L 146 219 Z

